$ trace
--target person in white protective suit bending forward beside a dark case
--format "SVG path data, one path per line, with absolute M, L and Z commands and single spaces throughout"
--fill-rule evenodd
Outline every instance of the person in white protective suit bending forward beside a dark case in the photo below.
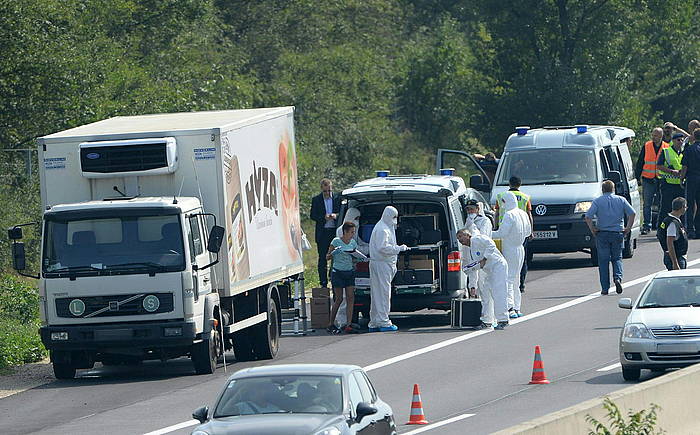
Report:
M 498 322 L 494 329 L 505 329 L 508 326 L 508 263 L 489 237 L 478 234 L 473 227 L 457 231 L 457 240 L 471 251 L 472 262 L 465 261 L 462 270 L 469 274 L 472 269 L 485 272 L 485 292 L 490 292 L 493 299 L 493 311 Z M 491 324 L 481 323 L 477 329 L 490 328 Z

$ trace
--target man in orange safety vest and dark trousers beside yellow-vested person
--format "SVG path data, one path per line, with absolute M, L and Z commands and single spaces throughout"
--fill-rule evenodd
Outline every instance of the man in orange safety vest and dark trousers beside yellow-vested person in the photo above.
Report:
M 655 202 L 660 201 L 661 192 L 659 190 L 659 175 L 656 171 L 656 162 L 659 160 L 661 149 L 668 147 L 666 142 L 663 142 L 663 130 L 656 127 L 651 131 L 651 140 L 644 144 L 639 152 L 636 166 L 637 181 L 642 185 L 643 198 L 643 217 L 644 224 L 642 226 L 642 234 L 648 234 L 652 226 L 651 206 Z

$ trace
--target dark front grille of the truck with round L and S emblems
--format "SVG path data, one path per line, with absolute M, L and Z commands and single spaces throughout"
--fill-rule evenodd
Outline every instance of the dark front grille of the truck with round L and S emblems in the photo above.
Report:
M 150 296 L 158 298 L 157 309 L 154 300 L 146 301 L 151 311 L 144 307 L 144 299 Z M 79 301 L 79 302 L 77 302 Z M 71 307 L 71 303 L 73 304 Z M 83 308 L 84 307 L 84 308 Z M 71 310 L 72 308 L 72 310 Z M 91 318 L 114 316 L 138 316 L 168 313 L 173 310 L 172 293 L 134 293 L 126 295 L 88 296 L 56 299 L 58 317 Z M 81 312 L 82 311 L 82 312 Z

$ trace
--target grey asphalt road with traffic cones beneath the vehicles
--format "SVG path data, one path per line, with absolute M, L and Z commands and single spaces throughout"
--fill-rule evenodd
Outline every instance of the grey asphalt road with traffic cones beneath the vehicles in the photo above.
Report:
M 689 261 L 700 258 L 691 241 Z M 624 296 L 636 297 L 645 279 L 663 269 L 653 235 L 624 260 Z M 629 385 L 622 379 L 617 340 L 627 311 L 618 296 L 598 295 L 597 268 L 586 254 L 536 255 L 523 301 L 525 317 L 505 331 L 453 330 L 437 312 L 394 316 L 398 333 L 284 337 L 274 361 L 234 363 L 233 370 L 273 363 L 349 363 L 365 367 L 380 396 L 406 426 L 414 383 L 430 423 L 426 431 L 482 434 L 563 409 Z M 542 349 L 549 385 L 529 385 L 534 347 Z M 233 355 L 229 354 L 233 359 Z M 79 372 L 0 400 L 0 433 L 189 433 L 191 420 L 211 405 L 227 373 L 196 376 L 188 359 Z M 644 371 L 642 381 L 650 379 Z M 448 420 L 452 419 L 452 420 Z M 426 427 L 427 428 L 427 427 Z

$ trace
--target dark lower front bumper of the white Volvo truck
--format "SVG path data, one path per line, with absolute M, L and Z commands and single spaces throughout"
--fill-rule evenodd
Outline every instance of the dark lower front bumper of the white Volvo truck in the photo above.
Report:
M 184 321 L 44 326 L 39 334 L 47 349 L 59 351 L 182 347 L 191 345 L 196 338 L 195 324 Z

